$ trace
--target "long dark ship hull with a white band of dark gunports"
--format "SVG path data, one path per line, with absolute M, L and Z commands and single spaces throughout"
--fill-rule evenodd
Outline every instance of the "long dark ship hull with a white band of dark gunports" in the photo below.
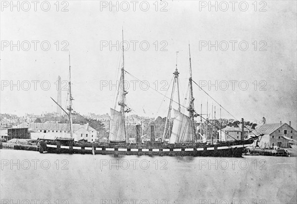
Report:
M 244 149 L 253 140 L 220 142 L 218 144 L 79 144 L 73 141 L 41 141 L 40 153 L 81 153 L 114 155 L 150 155 L 150 156 L 223 156 L 241 157 Z

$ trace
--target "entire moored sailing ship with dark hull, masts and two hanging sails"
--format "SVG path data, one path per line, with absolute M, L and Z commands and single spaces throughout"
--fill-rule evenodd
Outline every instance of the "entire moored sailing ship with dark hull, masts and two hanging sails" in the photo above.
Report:
M 123 31 L 122 31 L 123 38 Z M 124 38 L 122 39 L 124 42 Z M 136 143 L 129 143 L 129 136 L 127 134 L 125 115 L 132 109 L 128 107 L 126 102 L 125 89 L 125 70 L 124 63 L 124 45 L 122 48 L 122 68 L 118 94 L 116 97 L 116 104 L 111 111 L 111 120 L 109 125 L 108 143 L 76 143 L 73 140 L 72 134 L 72 96 L 71 96 L 71 81 L 69 80 L 69 133 L 68 139 L 56 139 L 54 141 L 41 141 L 40 153 L 93 153 L 93 154 L 124 154 L 124 155 L 159 155 L 159 156 L 227 156 L 227 157 L 241 157 L 244 149 L 253 143 L 254 139 L 248 140 L 234 140 L 234 141 L 215 141 L 205 142 L 199 140 L 201 132 L 197 135 L 195 128 L 195 117 L 203 117 L 195 111 L 194 96 L 193 96 L 193 80 L 192 80 L 192 64 L 191 51 L 189 45 L 189 62 L 190 62 L 190 77 L 188 85 L 187 106 L 182 106 L 179 99 L 179 72 L 176 69 L 174 74 L 174 84 L 172 88 L 168 114 L 166 118 L 164 133 L 162 141 L 142 142 L 140 136 L 140 127 L 136 127 Z M 70 57 L 69 57 L 70 59 Z M 69 60 L 70 72 L 70 60 Z M 173 93 L 175 86 L 178 90 L 178 108 L 172 108 Z M 116 110 L 117 107 L 119 110 Z M 186 109 L 188 114 L 184 114 L 182 107 Z M 171 111 L 173 110 L 173 120 L 171 120 Z M 208 121 L 207 121 L 208 123 Z M 243 134 L 243 133 L 242 133 Z M 169 142 L 166 138 L 169 137 Z M 242 137 L 243 138 L 243 137 Z

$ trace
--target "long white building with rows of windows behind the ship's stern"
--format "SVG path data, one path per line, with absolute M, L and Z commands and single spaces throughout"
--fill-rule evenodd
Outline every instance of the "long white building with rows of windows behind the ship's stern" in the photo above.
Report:
M 31 139 L 44 138 L 53 140 L 55 138 L 69 138 L 68 123 L 22 123 L 22 127 L 29 128 Z M 72 124 L 74 141 L 87 140 L 90 143 L 98 140 L 97 130 L 92 128 L 89 123 Z

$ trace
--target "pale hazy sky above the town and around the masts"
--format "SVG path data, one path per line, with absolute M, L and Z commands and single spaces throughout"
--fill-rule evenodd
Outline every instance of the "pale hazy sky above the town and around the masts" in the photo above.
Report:
M 123 28 L 131 114 L 167 115 L 176 61 L 184 104 L 190 43 L 193 80 L 224 107 L 194 84 L 198 112 L 202 103 L 210 118 L 215 107 L 216 118 L 264 116 L 297 129 L 297 1 L 211 2 L 1 1 L 0 112 L 55 111 L 49 97 L 57 98 L 58 76 L 65 107 L 69 52 L 75 110 L 109 112 Z

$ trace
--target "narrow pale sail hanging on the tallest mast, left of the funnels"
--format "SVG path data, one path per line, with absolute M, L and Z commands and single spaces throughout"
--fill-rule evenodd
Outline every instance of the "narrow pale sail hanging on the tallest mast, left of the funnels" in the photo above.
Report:
M 112 108 L 110 108 L 110 111 L 109 142 L 123 142 L 125 141 L 123 115 Z

